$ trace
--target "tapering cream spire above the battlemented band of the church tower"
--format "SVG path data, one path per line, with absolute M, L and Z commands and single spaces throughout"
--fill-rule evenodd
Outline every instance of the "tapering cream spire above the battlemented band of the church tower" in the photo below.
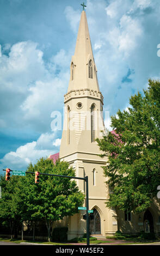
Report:
M 71 60 L 71 77 L 68 93 L 76 89 L 92 89 L 100 92 L 97 81 L 96 66 L 91 47 L 87 16 L 82 11 L 76 41 L 75 54 Z

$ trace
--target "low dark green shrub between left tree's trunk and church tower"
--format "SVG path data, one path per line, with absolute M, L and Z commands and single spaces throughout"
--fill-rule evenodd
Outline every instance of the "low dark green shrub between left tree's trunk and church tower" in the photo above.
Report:
M 65 242 L 67 241 L 67 227 L 54 228 L 52 233 L 52 241 Z

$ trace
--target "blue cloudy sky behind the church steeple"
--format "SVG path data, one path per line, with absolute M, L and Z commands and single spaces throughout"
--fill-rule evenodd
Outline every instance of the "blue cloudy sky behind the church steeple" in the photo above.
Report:
M 63 113 L 82 2 L 0 0 L 0 172 L 59 151 L 51 113 Z M 159 1 L 84 2 L 104 110 L 113 115 L 160 76 Z

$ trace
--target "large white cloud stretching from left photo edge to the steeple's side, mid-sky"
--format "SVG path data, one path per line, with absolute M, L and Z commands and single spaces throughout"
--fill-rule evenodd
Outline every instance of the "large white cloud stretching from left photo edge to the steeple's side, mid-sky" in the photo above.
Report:
M 15 126 L 49 131 L 50 115 L 54 109 L 61 108 L 67 91 L 70 56 L 61 49 L 46 65 L 43 52 L 32 41 L 14 44 L 9 56 L 2 54 L 0 107 L 5 117 L 0 118 L 3 124 L 10 120 Z

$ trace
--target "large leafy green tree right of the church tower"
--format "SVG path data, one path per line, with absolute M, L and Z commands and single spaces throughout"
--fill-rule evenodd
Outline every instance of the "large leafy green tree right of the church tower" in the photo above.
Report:
M 112 193 L 109 208 L 142 212 L 157 195 L 160 185 L 160 82 L 149 80 L 144 95 L 130 99 L 128 111 L 111 117 L 113 131 L 97 139 Z

